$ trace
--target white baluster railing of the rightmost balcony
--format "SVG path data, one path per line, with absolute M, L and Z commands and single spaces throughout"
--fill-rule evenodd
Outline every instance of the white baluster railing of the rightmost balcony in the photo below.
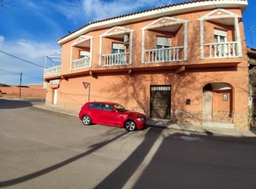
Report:
M 238 42 L 207 43 L 209 47 L 208 58 L 238 57 Z

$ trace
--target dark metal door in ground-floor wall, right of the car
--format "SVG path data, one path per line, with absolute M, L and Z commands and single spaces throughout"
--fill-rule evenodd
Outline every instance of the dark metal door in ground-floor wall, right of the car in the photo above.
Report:
M 171 119 L 171 85 L 151 86 L 150 91 L 150 117 Z

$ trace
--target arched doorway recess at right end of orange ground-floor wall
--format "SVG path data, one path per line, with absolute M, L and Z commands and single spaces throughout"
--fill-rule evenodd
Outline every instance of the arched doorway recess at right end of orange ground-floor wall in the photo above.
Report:
M 234 128 L 233 87 L 224 82 L 203 87 L 203 125 Z

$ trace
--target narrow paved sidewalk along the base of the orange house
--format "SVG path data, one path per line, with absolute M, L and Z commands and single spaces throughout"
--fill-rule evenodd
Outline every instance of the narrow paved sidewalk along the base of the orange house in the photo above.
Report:
M 78 117 L 78 111 L 70 110 L 70 109 L 62 109 L 59 107 L 46 106 L 45 104 L 37 104 L 33 105 L 33 107 L 37 107 L 40 109 L 46 109 L 52 112 L 58 112 L 61 114 L 68 114 L 71 116 Z M 235 129 L 225 129 L 225 128 L 217 128 L 211 126 L 192 126 L 192 125 L 183 125 L 183 124 L 174 124 L 171 121 L 166 119 L 148 119 L 146 121 L 147 126 L 156 126 L 163 127 L 167 129 L 175 129 L 178 131 L 188 131 L 197 134 L 208 134 L 214 136 L 236 136 L 236 137 L 256 137 L 256 130 L 247 130 L 240 131 Z

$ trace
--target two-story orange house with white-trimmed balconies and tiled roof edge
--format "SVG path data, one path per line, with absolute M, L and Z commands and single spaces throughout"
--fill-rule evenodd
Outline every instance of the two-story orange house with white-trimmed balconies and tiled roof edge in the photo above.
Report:
M 46 104 L 118 102 L 151 118 L 247 129 L 246 6 L 187 1 L 87 23 L 46 56 Z

